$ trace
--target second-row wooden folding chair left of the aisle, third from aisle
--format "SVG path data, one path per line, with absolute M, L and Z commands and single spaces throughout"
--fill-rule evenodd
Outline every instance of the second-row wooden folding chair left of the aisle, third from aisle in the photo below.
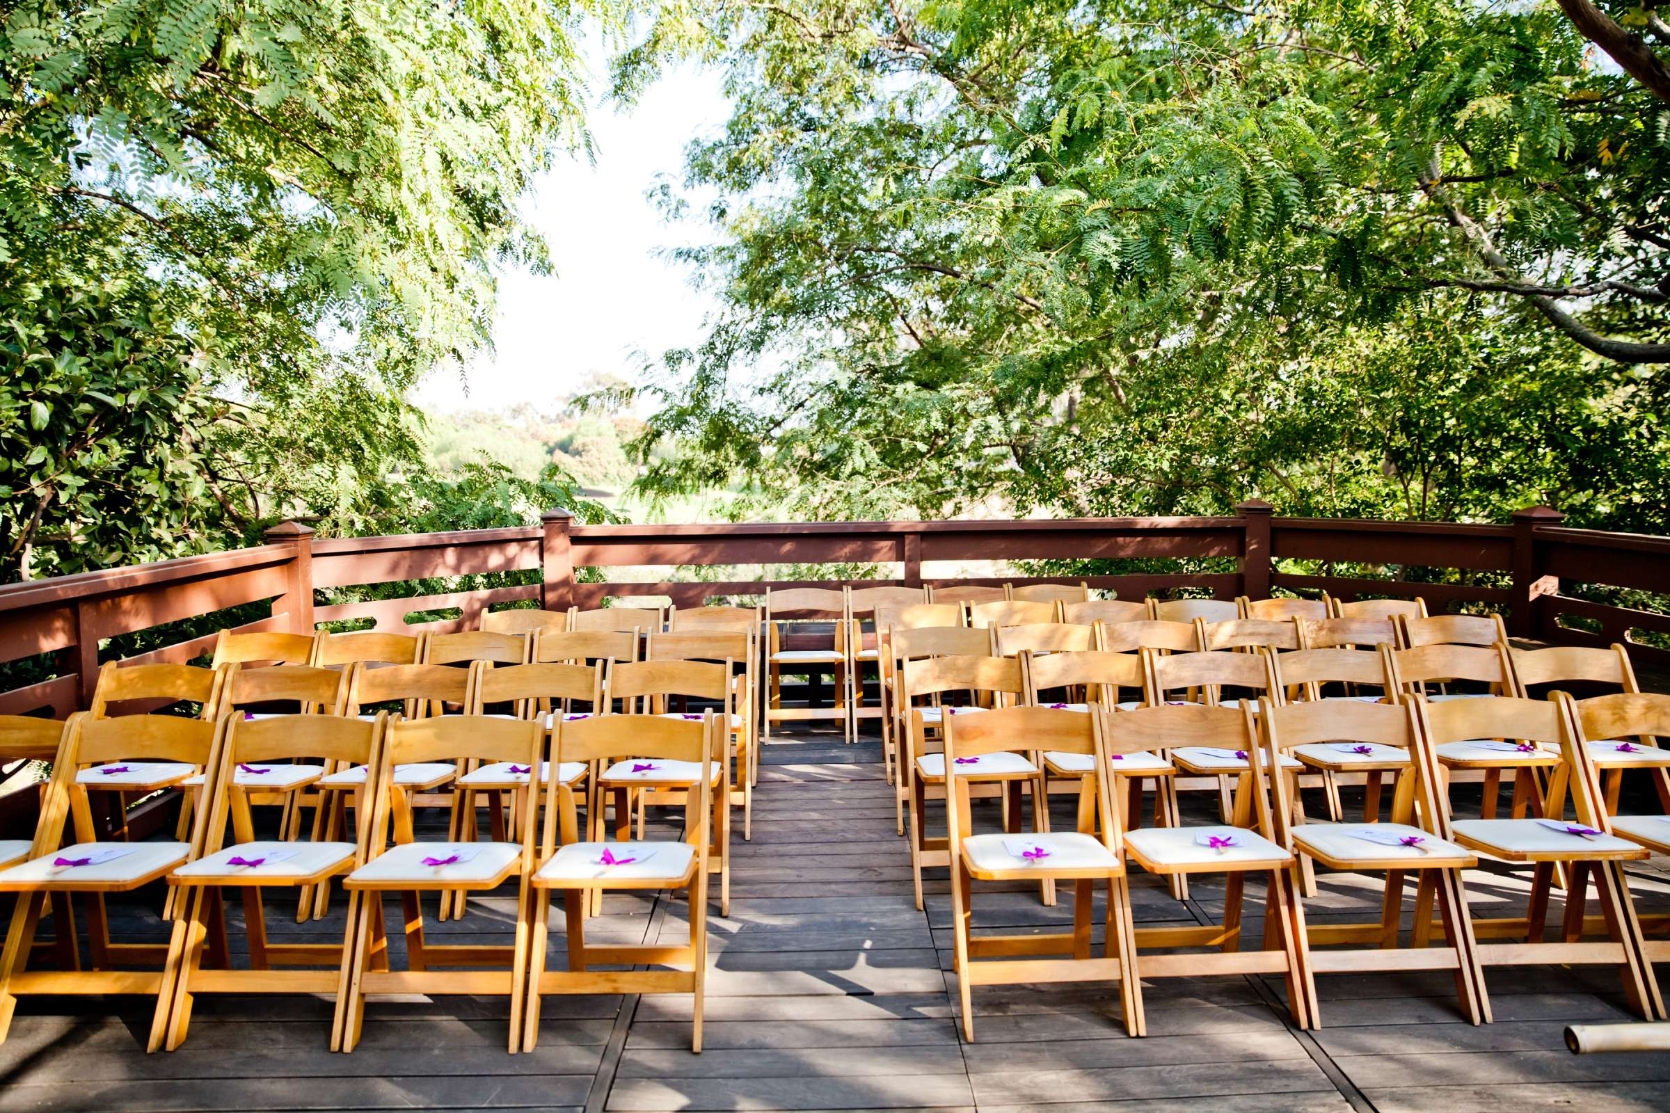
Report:
M 396 709 L 406 719 L 429 719 L 446 713 L 448 706 L 459 711 L 469 706 L 471 684 L 476 669 L 459 669 L 451 664 L 391 664 L 381 669 L 354 666 L 347 677 L 347 711 L 349 716 L 369 718 L 371 708 L 377 704 L 397 703 Z M 347 766 L 319 778 L 321 793 L 334 793 L 326 809 L 326 839 L 337 839 L 347 828 L 347 808 L 352 804 L 356 816 L 369 814 L 366 796 L 372 768 L 367 764 Z M 407 808 L 412 806 L 412 794 L 438 789 L 458 776 L 456 761 L 418 761 L 401 763 L 394 768 L 394 779 L 389 791 L 406 796 Z M 456 794 L 454 794 L 456 796 Z M 471 798 L 471 806 L 474 799 Z M 471 813 L 474 814 L 474 813 Z M 463 803 L 453 808 L 451 831 L 458 838 L 458 829 L 464 821 Z M 304 891 L 306 893 L 306 891 Z M 321 919 L 329 906 L 331 883 L 322 881 L 312 893 L 312 918 Z M 453 914 L 464 914 L 464 894 L 441 894 L 441 919 Z

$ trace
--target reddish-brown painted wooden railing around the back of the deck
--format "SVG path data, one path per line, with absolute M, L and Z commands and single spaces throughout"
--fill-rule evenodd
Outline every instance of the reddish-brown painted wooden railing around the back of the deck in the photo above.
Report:
M 1670 634 L 1670 614 L 1603 606 L 1558 594 L 1560 581 L 1670 594 L 1670 539 L 1560 527 L 1560 514 L 1535 507 L 1511 526 L 1374 522 L 1273 517 L 1264 502 L 1244 502 L 1234 517 L 1119 517 L 1000 522 L 818 522 L 743 526 L 578 526 L 561 511 L 539 526 L 314 539 L 294 522 L 269 544 L 137 567 L 85 572 L 0 587 L 0 662 L 52 654 L 55 676 L 0 692 L 0 713 L 65 716 L 87 704 L 100 642 L 227 607 L 271 601 L 271 617 L 245 629 L 309 631 L 316 622 L 369 619 L 377 629 L 468 629 L 494 604 L 538 599 L 551 609 L 598 606 L 610 597 L 670 596 L 681 607 L 713 596 L 763 592 L 790 581 L 611 582 L 591 581 L 621 567 L 731 564 L 897 564 L 898 579 L 924 581 L 924 562 L 1039 559 L 1219 557 L 1226 572 L 1064 576 L 1122 597 L 1192 589 L 1221 599 L 1264 597 L 1273 587 L 1358 596 L 1425 597 L 1435 612 L 1483 606 L 1510 616 L 1516 636 L 1555 642 L 1632 641 L 1632 631 Z M 1496 586 L 1416 582 L 1276 571 L 1281 562 L 1414 566 L 1485 574 Z M 576 577 L 576 569 L 591 569 Z M 538 571 L 536 584 L 316 606 L 314 591 L 428 577 Z M 1027 582 L 1024 577 L 1004 577 Z M 1042 582 L 1042 581 L 1035 581 Z M 807 581 L 795 581 L 795 586 Z M 1500 586 L 1506 584 L 1506 586 Z M 456 619 L 409 622 L 416 612 L 451 609 Z M 1592 626 L 1597 629 L 1575 629 Z M 189 661 L 212 637 L 200 636 L 144 654 Z M 1640 646 L 1638 656 L 1670 662 L 1670 652 Z

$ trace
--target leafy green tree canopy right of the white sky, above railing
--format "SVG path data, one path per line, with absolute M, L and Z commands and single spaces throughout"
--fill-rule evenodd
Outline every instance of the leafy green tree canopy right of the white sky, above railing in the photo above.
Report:
M 670 3 L 616 77 L 723 67 L 725 309 L 640 486 L 1670 527 L 1670 102 L 1561 7 Z

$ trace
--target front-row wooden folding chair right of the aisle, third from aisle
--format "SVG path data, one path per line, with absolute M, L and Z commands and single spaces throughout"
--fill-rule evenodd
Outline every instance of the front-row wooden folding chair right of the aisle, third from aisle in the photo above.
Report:
M 1326 699 L 1284 706 L 1264 703 L 1259 729 L 1266 768 L 1274 768 L 1288 753 L 1303 758 L 1304 751 L 1349 753 L 1358 748 L 1403 753 L 1413 759 L 1411 773 L 1398 781 L 1389 823 L 1289 823 L 1293 809 L 1286 799 L 1286 781 L 1271 778 L 1271 823 L 1278 843 L 1329 869 L 1386 874 L 1378 923 L 1309 924 L 1308 946 L 1354 944 L 1309 951 L 1311 973 L 1448 969 L 1455 975 L 1461 1015 L 1471 1025 L 1488 1021 L 1490 998 L 1461 886 L 1461 871 L 1478 864 L 1478 858 L 1450 841 L 1448 809 L 1440 804 L 1443 781 L 1438 763 L 1416 729 L 1413 709 L 1408 704 Z M 1428 881 L 1438 894 L 1446 939 L 1440 946 L 1398 949 L 1408 873 Z M 1314 1001 L 1311 1008 L 1311 1021 L 1321 1028 Z

